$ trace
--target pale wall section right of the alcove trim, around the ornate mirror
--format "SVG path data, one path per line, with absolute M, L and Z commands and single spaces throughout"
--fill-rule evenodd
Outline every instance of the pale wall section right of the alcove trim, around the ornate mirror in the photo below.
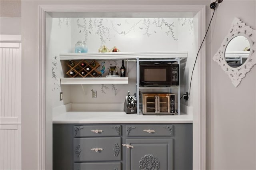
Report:
M 246 74 L 238 87 L 212 60 L 234 17 L 256 29 L 255 1 L 223 1 L 212 25 L 211 92 L 207 98 L 208 167 L 214 170 L 256 169 L 256 67 Z M 221 30 L 221 31 L 220 31 Z M 209 108 L 210 107 L 210 108 Z

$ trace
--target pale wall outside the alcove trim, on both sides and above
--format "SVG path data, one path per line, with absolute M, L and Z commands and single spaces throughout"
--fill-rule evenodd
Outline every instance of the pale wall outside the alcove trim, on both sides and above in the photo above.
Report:
M 22 169 L 38 169 L 38 4 L 80 4 L 84 1 L 22 1 Z M 96 3 L 96 2 L 90 2 Z M 141 4 L 145 2 L 100 2 Z M 147 1 L 145 4 L 203 4 L 207 1 Z M 206 154 L 207 169 L 256 169 L 256 67 L 235 88 L 212 56 L 227 34 L 234 17 L 255 26 L 255 1 L 223 1 L 216 10 L 212 33 L 206 39 Z M 210 21 L 206 9 L 206 23 Z M 31 71 L 33 70 L 33 71 Z M 29 77 L 26 75 L 30 75 Z M 34 77 L 33 79 L 31 77 Z M 28 159 L 29 158 L 29 159 Z

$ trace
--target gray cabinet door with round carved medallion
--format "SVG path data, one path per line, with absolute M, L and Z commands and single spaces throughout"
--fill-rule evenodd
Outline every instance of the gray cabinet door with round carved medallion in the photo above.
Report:
M 172 170 L 173 140 L 160 139 L 126 139 L 126 170 Z

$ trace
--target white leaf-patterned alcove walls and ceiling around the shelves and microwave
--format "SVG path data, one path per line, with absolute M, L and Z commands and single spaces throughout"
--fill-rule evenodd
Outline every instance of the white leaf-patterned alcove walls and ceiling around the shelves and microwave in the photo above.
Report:
M 103 108 L 109 103 L 120 103 L 118 110 L 122 111 L 127 92 L 136 93 L 136 59 L 128 60 L 127 85 L 60 85 L 60 77 L 67 77 L 65 62 L 60 62 L 60 54 L 74 53 L 74 45 L 78 40 L 86 42 L 88 54 L 98 52 L 102 45 L 109 49 L 116 46 L 121 52 L 127 53 L 186 52 L 186 59 L 180 62 L 179 96 L 182 96 L 189 90 L 198 49 L 197 18 L 196 12 L 48 12 L 46 66 L 48 76 L 51 77 L 48 80 L 52 85 L 52 108 L 68 103 L 98 103 Z M 110 65 L 120 69 L 121 59 L 103 59 L 99 63 L 102 64 L 102 61 L 105 62 L 105 74 Z M 102 67 L 100 65 L 98 69 Z M 92 99 L 92 90 L 98 92 L 96 99 Z M 114 90 L 118 93 L 113 93 Z M 59 101 L 60 92 L 63 92 L 63 101 Z M 189 101 L 181 100 L 183 114 L 192 114 L 193 95 L 191 93 Z

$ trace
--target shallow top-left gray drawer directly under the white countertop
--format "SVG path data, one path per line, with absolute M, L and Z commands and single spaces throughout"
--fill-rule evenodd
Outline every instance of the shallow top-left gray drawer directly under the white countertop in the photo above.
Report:
M 120 125 L 74 126 L 74 137 L 120 136 Z

